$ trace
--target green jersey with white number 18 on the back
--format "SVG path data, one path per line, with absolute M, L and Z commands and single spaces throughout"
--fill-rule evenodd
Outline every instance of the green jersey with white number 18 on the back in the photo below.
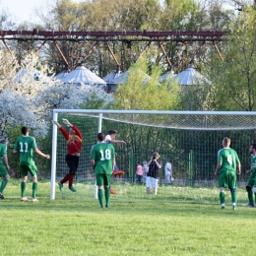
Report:
M 95 173 L 112 174 L 114 156 L 112 144 L 104 142 L 96 144 L 91 151 L 91 160 L 96 161 Z

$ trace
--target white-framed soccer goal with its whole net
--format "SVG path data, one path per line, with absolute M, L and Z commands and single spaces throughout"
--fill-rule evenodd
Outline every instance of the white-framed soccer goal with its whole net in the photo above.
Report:
M 255 142 L 256 112 L 231 111 L 150 111 L 54 109 L 53 120 L 63 125 L 68 119 L 83 134 L 83 148 L 76 179 L 95 182 L 90 154 L 98 132 L 117 131 L 116 139 L 126 145 L 114 145 L 118 168 L 125 172 L 123 182 L 137 182 L 136 163 L 149 161 L 159 152 L 162 161 L 160 185 L 165 185 L 164 164 L 172 164 L 173 184 L 180 186 L 211 186 L 217 153 L 224 137 L 231 139 L 242 162 L 249 168 L 248 147 Z M 54 125 L 52 129 L 51 194 L 55 198 L 55 182 L 68 172 L 65 155 L 66 141 Z M 245 181 L 244 171 L 238 178 Z

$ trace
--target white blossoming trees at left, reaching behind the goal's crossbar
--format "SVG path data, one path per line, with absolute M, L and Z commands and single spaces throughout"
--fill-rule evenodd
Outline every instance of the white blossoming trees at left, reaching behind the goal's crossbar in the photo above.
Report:
M 34 136 L 44 137 L 50 128 L 53 108 L 80 108 L 92 97 L 101 102 L 100 107 L 112 101 L 112 95 L 107 95 L 102 89 L 53 80 L 48 76 L 52 71 L 33 54 L 28 54 L 21 66 L 10 57 L 11 54 L 9 62 L 1 62 L 1 54 L 4 55 L 0 49 L 0 74 L 5 74 L 0 81 L 2 137 L 7 136 L 8 127 L 19 125 L 28 125 L 34 128 Z M 33 79 L 35 72 L 41 73 L 39 81 Z

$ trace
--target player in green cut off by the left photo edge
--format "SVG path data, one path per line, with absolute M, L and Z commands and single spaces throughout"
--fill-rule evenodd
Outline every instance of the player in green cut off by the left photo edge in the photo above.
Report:
M 3 139 L 0 141 L 0 177 L 3 177 L 1 186 L 0 186 L 0 199 L 4 199 L 3 191 L 10 179 L 10 175 L 8 174 L 8 170 L 10 169 L 8 158 L 7 158 L 7 146 L 8 141 Z

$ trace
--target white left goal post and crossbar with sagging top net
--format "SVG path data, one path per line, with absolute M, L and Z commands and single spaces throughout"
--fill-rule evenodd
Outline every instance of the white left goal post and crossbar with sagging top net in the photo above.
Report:
M 104 116 L 106 116 L 106 119 L 116 122 L 169 129 L 228 131 L 254 130 L 256 127 L 255 111 L 53 109 L 54 121 L 59 121 L 59 114 L 77 114 L 82 117 L 96 117 L 98 119 L 97 132 L 101 132 Z M 56 125 L 53 125 L 50 199 L 55 199 L 56 192 L 57 134 L 58 128 Z

